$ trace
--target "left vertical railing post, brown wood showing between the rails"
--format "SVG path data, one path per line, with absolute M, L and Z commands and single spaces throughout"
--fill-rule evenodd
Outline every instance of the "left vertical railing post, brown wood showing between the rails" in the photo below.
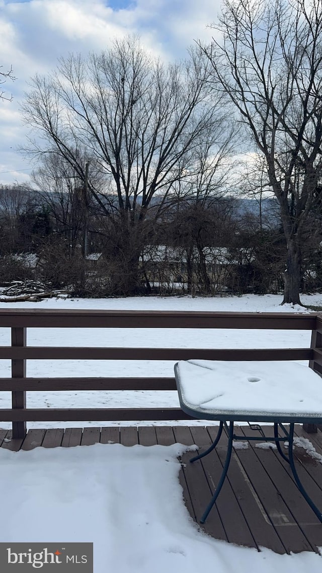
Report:
M 26 346 L 26 328 L 11 328 L 11 346 Z M 26 360 L 11 360 L 11 377 L 26 377 Z M 26 408 L 26 392 L 11 392 L 12 408 Z M 24 438 L 27 433 L 26 422 L 12 423 L 12 437 Z

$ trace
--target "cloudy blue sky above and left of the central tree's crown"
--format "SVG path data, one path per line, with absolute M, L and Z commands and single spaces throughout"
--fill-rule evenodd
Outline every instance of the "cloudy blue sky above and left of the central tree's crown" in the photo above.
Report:
M 0 101 L 0 183 L 26 182 L 33 168 L 17 151 L 28 132 L 19 106 L 30 77 L 127 34 L 164 61 L 184 58 L 194 40 L 210 40 L 219 10 L 220 0 L 0 0 L 0 70 L 12 66 L 16 78 L 2 85 L 13 100 Z

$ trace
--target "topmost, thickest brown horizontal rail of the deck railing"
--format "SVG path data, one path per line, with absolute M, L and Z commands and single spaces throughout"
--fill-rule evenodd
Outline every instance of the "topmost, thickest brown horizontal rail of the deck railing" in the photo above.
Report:
M 313 330 L 315 322 L 316 313 L 0 309 L 1 327 Z

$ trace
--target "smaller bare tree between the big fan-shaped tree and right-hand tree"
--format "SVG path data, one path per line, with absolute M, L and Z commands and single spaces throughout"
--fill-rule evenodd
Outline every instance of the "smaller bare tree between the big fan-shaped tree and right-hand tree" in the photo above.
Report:
M 197 274 L 199 292 L 207 295 L 213 292 L 207 272 L 207 247 L 217 245 L 219 236 L 223 240 L 221 231 L 227 210 L 231 210 L 227 207 L 233 203 L 224 197 L 230 189 L 232 155 L 238 137 L 238 129 L 231 128 L 228 118 L 217 127 L 220 129 L 216 134 L 217 148 L 214 149 L 213 133 L 200 142 L 194 163 L 182 170 L 170 195 L 177 211 L 172 219 L 177 241 L 186 248 L 189 292 L 193 292 L 193 277 Z

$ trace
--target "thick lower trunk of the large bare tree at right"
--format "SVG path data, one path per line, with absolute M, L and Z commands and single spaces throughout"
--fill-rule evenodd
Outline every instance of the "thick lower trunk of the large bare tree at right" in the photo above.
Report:
M 288 255 L 284 272 L 284 299 L 282 304 L 300 304 L 301 250 L 295 241 L 288 241 Z

